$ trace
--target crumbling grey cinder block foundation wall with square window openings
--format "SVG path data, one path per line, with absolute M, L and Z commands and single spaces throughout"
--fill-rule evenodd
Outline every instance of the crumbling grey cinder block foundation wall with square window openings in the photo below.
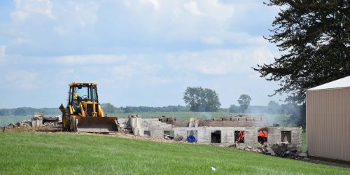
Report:
M 127 125 L 127 121 L 119 120 L 120 125 L 122 122 Z M 130 118 L 132 131 L 137 135 L 163 138 L 165 134 L 174 132 L 174 137 L 179 135 L 187 138 L 192 134 L 198 144 L 216 146 L 239 144 L 257 148 L 261 146 L 258 142 L 258 133 L 264 131 L 267 132 L 267 144 L 288 142 L 290 146 L 297 148 L 297 152 L 302 152 L 302 127 L 267 127 L 267 123 L 267 119 L 262 116 L 235 116 L 213 120 L 191 118 L 189 122 L 176 121 L 175 118 Z M 244 132 L 244 139 L 240 143 L 236 142 L 235 132 Z

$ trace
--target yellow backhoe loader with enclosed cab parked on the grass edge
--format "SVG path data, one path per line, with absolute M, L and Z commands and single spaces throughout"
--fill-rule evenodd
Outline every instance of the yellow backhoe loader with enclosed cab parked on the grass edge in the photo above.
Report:
M 71 132 L 115 132 L 116 117 L 104 116 L 99 105 L 97 83 L 70 83 L 68 104 L 62 111 L 62 129 Z

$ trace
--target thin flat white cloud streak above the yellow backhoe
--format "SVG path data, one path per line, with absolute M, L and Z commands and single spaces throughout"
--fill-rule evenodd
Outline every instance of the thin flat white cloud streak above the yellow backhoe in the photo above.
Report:
M 57 63 L 68 64 L 68 65 L 79 65 L 79 64 L 117 64 L 125 60 L 126 57 L 123 55 L 66 55 L 56 57 Z

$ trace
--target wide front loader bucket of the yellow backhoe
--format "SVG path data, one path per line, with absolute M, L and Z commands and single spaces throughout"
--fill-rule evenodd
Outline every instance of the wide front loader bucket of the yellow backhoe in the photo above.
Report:
M 78 117 L 78 132 L 116 132 L 118 118 Z

